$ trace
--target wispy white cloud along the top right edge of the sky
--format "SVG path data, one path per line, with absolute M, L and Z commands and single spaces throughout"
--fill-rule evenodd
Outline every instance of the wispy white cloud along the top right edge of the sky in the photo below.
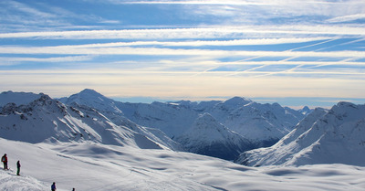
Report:
M 245 20 L 245 23 L 254 20 L 253 23 L 265 22 L 276 18 L 288 20 L 299 19 L 302 22 L 318 22 L 318 19 L 326 17 L 349 16 L 364 14 L 365 5 L 358 0 L 347 1 L 301 1 L 301 0 L 183 0 L 183 1 L 120 1 L 110 0 L 112 4 L 147 4 L 147 5 L 181 5 L 182 11 L 188 15 L 214 15 L 230 16 L 229 20 L 239 21 L 237 17 Z M 344 8 L 346 7 L 346 8 Z M 302 16 L 302 18 L 300 18 Z M 313 19 L 314 18 L 314 19 Z M 298 21 L 298 20 L 297 20 Z

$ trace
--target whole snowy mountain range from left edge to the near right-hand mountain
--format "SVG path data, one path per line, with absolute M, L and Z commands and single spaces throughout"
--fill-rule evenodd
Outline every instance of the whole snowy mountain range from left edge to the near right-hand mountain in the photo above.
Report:
M 0 97 L 3 102 L 14 102 L 0 105 L 0 131 L 6 139 L 29 143 L 92 140 L 186 150 L 228 160 L 276 143 L 306 116 L 277 103 L 260 104 L 240 97 L 199 103 L 124 103 L 89 89 L 58 100 L 43 93 L 11 91 Z M 31 100 L 35 101 L 28 103 Z

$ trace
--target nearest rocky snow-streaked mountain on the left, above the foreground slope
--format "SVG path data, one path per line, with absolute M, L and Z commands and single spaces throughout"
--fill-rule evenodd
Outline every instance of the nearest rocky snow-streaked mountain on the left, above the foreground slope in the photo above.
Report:
M 155 136 L 137 133 L 138 125 L 117 125 L 87 106 L 68 106 L 43 94 L 36 101 L 17 106 L 8 103 L 0 112 L 0 136 L 27 143 L 79 142 L 174 149 Z

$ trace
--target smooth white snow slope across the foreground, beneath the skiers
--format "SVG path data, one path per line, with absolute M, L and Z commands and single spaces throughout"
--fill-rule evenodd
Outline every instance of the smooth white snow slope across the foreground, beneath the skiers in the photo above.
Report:
M 22 143 L 0 139 L 9 166 L 0 190 L 353 190 L 365 168 L 345 164 L 247 167 L 213 157 L 100 143 Z M 25 188 L 25 186 L 29 186 Z M 46 188 L 45 188 L 46 186 Z M 25 188 L 25 189 L 24 189 Z M 31 188 L 31 189 L 30 189 Z

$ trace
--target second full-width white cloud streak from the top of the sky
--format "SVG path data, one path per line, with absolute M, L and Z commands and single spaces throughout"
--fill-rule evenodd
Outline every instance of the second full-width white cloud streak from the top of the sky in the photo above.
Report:
M 248 57 L 323 57 L 323 58 L 364 58 L 363 51 L 245 51 L 245 50 L 211 50 L 183 48 L 130 48 L 102 47 L 87 48 L 76 46 L 56 47 L 0 47 L 3 54 L 56 54 L 56 55 L 162 55 L 162 56 L 211 56 L 224 58 L 233 56 Z

